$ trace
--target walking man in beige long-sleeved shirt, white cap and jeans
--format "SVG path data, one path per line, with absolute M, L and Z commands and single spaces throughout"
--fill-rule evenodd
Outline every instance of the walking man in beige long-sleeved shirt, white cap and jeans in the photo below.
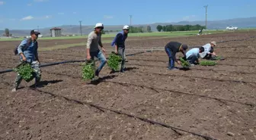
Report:
M 87 51 L 87 59 L 94 60 L 94 57 L 100 59 L 101 64 L 98 67 L 98 69 L 95 71 L 95 76 L 98 76 L 101 69 L 104 67 L 104 65 L 107 63 L 107 59 L 105 58 L 104 54 L 100 51 L 98 46 L 100 45 L 103 52 L 106 52 L 106 50 L 103 48 L 103 45 L 101 43 L 101 30 L 104 30 L 103 23 L 96 23 L 94 26 L 94 31 L 92 31 L 88 35 L 88 41 L 86 45 L 86 51 Z

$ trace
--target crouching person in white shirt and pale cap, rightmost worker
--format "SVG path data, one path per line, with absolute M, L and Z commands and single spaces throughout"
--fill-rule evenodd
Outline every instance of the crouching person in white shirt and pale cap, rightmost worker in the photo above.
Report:
M 204 59 L 211 59 L 213 57 L 216 57 L 216 53 L 214 52 L 213 47 L 216 46 L 216 42 L 210 42 L 206 45 L 203 45 L 204 51 L 203 53 L 200 53 L 200 57 Z

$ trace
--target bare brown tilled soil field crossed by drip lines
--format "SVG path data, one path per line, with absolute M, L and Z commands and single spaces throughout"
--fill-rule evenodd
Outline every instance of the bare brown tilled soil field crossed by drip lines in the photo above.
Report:
M 97 82 L 82 80 L 82 63 L 42 67 L 42 81 L 11 88 L 16 74 L 0 74 L 0 139 L 256 139 L 256 32 L 179 38 L 128 38 L 126 54 L 162 48 L 171 41 L 217 44 L 226 58 L 213 67 L 167 70 L 165 51 L 127 56 L 125 73 L 105 65 Z M 241 40 L 244 39 L 244 40 Z M 40 47 L 85 42 L 39 40 Z M 1 70 L 18 64 L 0 42 Z M 104 44 L 107 54 L 113 50 Z M 85 46 L 40 51 L 41 64 L 85 60 Z M 178 55 L 181 55 L 178 53 Z M 178 66 L 181 67 L 181 66 Z M 149 121 L 152 120 L 152 121 Z M 159 124 L 161 123 L 161 124 Z

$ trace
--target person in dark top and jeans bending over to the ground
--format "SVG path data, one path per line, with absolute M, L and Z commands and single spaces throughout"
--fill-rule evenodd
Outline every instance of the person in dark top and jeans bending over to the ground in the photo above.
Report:
M 180 52 L 184 54 L 184 57 L 186 57 L 186 50 L 187 45 L 182 44 L 180 42 L 168 42 L 167 45 L 165 45 L 165 52 L 168 54 L 169 63 L 168 63 L 168 69 L 169 70 L 178 70 L 174 67 L 174 61 L 176 61 L 178 64 L 181 64 L 181 61 L 178 61 L 176 59 L 176 53 Z

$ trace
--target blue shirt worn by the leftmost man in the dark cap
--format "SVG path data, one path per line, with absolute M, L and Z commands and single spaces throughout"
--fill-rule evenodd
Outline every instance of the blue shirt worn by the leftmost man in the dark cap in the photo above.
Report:
M 28 41 L 28 39 L 24 39 L 21 42 L 21 44 L 18 46 L 18 54 L 23 53 L 27 59 L 27 62 L 33 62 L 36 61 L 37 56 L 37 41 L 31 41 L 30 44 L 27 45 Z

